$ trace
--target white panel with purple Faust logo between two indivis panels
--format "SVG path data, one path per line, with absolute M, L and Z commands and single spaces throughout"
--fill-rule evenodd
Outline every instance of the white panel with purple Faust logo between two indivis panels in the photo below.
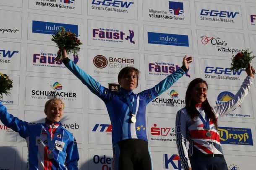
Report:
M 88 20 L 88 45 L 138 49 L 138 25 Z

